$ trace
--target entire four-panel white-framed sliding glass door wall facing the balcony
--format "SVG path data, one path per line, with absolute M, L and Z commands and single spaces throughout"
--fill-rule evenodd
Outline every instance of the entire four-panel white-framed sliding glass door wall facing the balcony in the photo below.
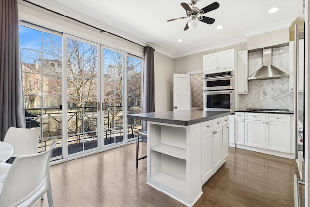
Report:
M 20 53 L 26 126 L 40 127 L 38 151 L 52 160 L 134 140 L 142 112 L 142 59 L 22 23 Z

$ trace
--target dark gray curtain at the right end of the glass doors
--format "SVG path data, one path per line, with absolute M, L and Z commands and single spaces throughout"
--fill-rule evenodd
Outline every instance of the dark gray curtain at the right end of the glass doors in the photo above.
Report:
M 154 48 L 144 47 L 144 68 L 143 68 L 143 106 L 142 112 L 154 112 Z M 142 121 L 142 131 L 147 130 L 146 121 Z

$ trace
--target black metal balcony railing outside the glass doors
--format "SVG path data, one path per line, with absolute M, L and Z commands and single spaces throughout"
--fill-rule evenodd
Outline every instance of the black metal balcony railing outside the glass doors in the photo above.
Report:
M 137 107 L 137 106 L 134 106 Z M 138 106 L 139 107 L 139 106 Z M 123 136 L 123 106 L 106 106 L 104 114 L 104 139 L 109 139 L 113 143 L 114 136 Z M 140 108 L 140 107 L 139 107 Z M 132 109 L 132 110 L 130 110 Z M 62 146 L 62 109 L 60 108 L 28 108 L 26 109 L 31 115 L 26 121 L 36 121 L 42 130 L 42 139 L 39 151 L 46 150 L 51 143 L 48 142 L 52 138 L 58 140 L 58 146 Z M 42 113 L 41 113 L 42 111 Z M 139 110 L 140 111 L 140 110 Z M 128 107 L 128 113 L 134 113 L 133 107 Z M 94 140 L 97 137 L 97 107 L 68 107 L 68 144 L 81 143 L 81 141 Z M 135 132 L 141 130 L 141 122 L 139 120 L 127 120 L 128 137 L 134 137 Z M 123 133 L 122 133 L 123 132 Z M 113 140 L 111 140 L 113 138 Z M 123 139 L 122 139 L 123 140 Z

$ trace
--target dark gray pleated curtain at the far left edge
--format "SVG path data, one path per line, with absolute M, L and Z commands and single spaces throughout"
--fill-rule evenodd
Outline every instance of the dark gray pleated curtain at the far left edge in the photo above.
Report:
M 10 127 L 25 128 L 17 0 L 0 0 L 0 140 Z

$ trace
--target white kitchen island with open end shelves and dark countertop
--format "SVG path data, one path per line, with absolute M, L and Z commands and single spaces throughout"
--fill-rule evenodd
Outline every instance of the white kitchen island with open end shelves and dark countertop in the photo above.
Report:
M 196 110 L 128 114 L 127 118 L 148 121 L 147 184 L 193 206 L 202 195 L 202 184 L 225 162 L 229 114 Z

